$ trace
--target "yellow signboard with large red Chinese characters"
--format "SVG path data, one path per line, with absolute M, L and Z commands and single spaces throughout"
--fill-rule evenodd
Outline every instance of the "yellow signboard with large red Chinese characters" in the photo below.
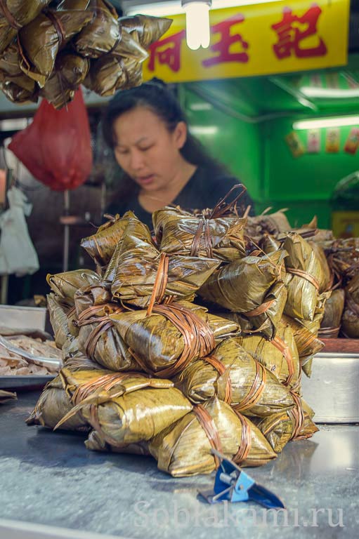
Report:
M 185 15 L 175 15 L 150 47 L 144 78 L 185 82 L 345 65 L 349 4 L 288 0 L 212 10 L 211 44 L 198 51 L 185 42 Z

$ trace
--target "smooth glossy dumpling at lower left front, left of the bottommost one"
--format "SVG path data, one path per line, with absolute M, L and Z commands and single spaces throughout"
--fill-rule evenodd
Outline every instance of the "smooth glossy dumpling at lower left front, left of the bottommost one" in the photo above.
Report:
M 148 385 L 156 382 L 148 380 Z M 192 410 L 181 391 L 168 387 L 169 380 L 157 382 L 162 384 L 161 389 L 138 389 L 122 397 L 98 394 L 97 401 L 93 398 L 91 404 L 79 404 L 81 414 L 98 437 L 115 448 L 148 441 Z

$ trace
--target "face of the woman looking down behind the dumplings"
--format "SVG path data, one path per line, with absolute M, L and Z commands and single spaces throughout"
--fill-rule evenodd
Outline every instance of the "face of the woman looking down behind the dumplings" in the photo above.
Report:
M 113 129 L 119 166 L 145 191 L 166 189 L 182 166 L 185 123 L 170 132 L 152 110 L 137 107 L 117 118 Z

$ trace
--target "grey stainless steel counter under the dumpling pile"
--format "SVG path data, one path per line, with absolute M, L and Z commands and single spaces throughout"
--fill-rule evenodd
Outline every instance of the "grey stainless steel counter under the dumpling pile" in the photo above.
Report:
M 38 395 L 20 394 L 0 408 L 0 519 L 32 523 L 14 535 L 15 524 L 0 520 L 1 539 L 358 536 L 359 425 L 320 425 L 312 439 L 291 442 L 273 463 L 247 470 L 284 501 L 287 512 L 273 514 L 252 503 L 204 503 L 197 489 L 211 488 L 213 476 L 173 479 L 151 458 L 94 453 L 80 435 L 27 427 Z M 35 524 L 74 532 L 47 535 Z

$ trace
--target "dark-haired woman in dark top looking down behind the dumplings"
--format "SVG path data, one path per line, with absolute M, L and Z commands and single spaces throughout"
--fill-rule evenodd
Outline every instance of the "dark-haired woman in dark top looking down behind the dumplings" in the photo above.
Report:
M 107 208 L 112 215 L 132 210 L 152 228 L 153 211 L 167 204 L 213 208 L 238 183 L 188 132 L 180 105 L 161 81 L 117 93 L 107 106 L 103 133 L 125 173 Z M 240 209 L 249 205 L 245 193 Z

